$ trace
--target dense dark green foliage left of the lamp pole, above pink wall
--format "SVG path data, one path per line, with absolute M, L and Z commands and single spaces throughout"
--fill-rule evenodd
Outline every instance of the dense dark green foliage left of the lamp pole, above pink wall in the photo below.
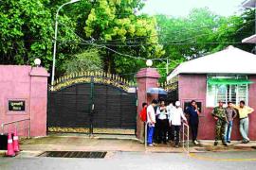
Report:
M 50 56 L 51 15 L 44 3 L 47 1 L 1 1 L 1 63 L 28 64 Z

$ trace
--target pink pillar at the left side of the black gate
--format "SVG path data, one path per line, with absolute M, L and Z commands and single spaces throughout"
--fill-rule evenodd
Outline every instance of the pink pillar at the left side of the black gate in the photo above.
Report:
M 30 135 L 46 136 L 47 73 L 43 67 L 30 72 Z

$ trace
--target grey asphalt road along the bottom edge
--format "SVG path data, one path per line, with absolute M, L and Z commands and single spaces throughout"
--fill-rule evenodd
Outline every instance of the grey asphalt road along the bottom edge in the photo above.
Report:
M 115 152 L 105 159 L 0 158 L 1 170 L 252 170 L 256 151 L 184 153 Z

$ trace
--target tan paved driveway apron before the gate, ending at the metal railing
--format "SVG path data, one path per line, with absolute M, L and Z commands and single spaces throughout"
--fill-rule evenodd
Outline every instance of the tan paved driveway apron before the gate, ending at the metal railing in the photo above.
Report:
M 183 148 L 174 148 L 173 144 L 159 144 L 145 148 L 136 138 L 131 136 L 48 136 L 23 141 L 22 150 L 72 150 L 72 151 L 133 151 L 133 152 L 184 152 Z M 192 151 L 194 148 L 192 148 Z

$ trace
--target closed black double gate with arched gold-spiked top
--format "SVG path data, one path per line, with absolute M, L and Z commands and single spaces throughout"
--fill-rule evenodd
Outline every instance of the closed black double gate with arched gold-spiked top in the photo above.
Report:
M 48 132 L 134 134 L 137 93 L 119 76 L 81 73 L 48 92 Z

